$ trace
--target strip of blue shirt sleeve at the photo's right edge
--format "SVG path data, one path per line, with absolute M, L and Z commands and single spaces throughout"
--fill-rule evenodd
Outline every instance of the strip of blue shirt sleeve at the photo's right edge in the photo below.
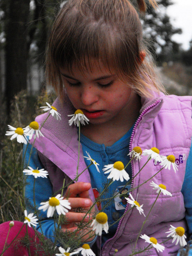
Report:
M 190 147 L 189 157 L 187 159 L 185 178 L 181 190 L 184 197 L 184 204 L 186 209 L 185 219 L 189 228 L 190 239 L 192 239 L 192 145 Z M 188 255 L 192 256 L 192 244 L 191 241 L 187 243 L 190 246 Z M 180 255 L 181 251 L 185 249 L 180 249 L 177 256 Z

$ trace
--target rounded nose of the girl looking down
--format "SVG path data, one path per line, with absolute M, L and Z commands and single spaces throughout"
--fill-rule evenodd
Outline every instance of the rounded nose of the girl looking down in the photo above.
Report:
M 81 91 L 81 101 L 85 106 L 90 106 L 99 100 L 98 91 L 92 86 L 87 86 Z

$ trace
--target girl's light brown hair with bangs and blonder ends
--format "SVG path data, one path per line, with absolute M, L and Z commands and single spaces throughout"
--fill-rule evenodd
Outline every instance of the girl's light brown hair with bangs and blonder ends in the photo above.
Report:
M 149 2 L 156 7 L 155 0 Z M 145 12 L 145 1 L 137 3 L 140 12 Z M 146 53 L 142 63 L 141 51 Z M 165 92 L 143 43 L 139 15 L 128 0 L 69 0 L 61 8 L 46 52 L 47 83 L 61 100 L 64 88 L 59 68 L 72 71 L 75 63 L 83 71 L 91 58 L 102 62 L 141 96 L 149 98 L 153 92 Z M 88 65 L 91 68 L 91 62 Z

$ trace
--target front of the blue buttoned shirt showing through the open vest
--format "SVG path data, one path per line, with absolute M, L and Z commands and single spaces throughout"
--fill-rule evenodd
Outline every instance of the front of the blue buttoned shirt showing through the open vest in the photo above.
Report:
M 104 187 L 108 184 L 108 175 L 104 174 L 103 168 L 105 165 L 114 164 L 116 161 L 121 161 L 124 166 L 129 163 L 130 158 L 127 156 L 129 154 L 129 142 L 131 133 L 133 130 L 134 125 L 132 128 L 116 143 L 114 143 L 112 146 L 105 147 L 104 144 L 98 144 L 94 143 L 93 141 L 89 140 L 81 134 L 80 136 L 80 142 L 83 149 L 83 155 L 87 156 L 86 151 L 90 154 L 91 158 L 93 158 L 96 163 L 99 164 L 99 170 L 96 171 L 96 167 L 94 165 L 91 165 L 89 167 L 89 174 L 91 176 L 91 186 L 93 188 L 95 197 L 98 196 L 98 194 L 101 193 L 101 191 L 104 190 Z M 88 166 L 90 164 L 90 161 L 85 158 L 85 163 Z M 132 170 L 131 165 L 128 165 L 126 168 L 127 173 L 129 174 L 129 177 L 131 179 L 132 176 Z M 123 182 L 114 181 L 109 188 L 106 190 L 106 192 L 101 196 L 101 206 L 99 205 L 99 209 L 103 207 L 103 205 L 106 205 L 108 201 L 110 200 L 114 194 L 118 194 L 119 191 L 122 190 L 122 188 L 126 185 L 127 181 L 124 180 Z M 131 187 L 130 185 L 127 185 L 124 189 L 124 192 L 127 190 L 129 191 Z M 122 192 L 121 192 L 122 193 Z M 128 196 L 128 194 L 127 194 Z M 124 199 L 124 200 L 123 200 Z M 111 202 L 108 204 L 106 208 L 104 208 L 104 212 L 108 216 L 108 224 L 109 226 L 113 224 L 115 221 L 117 221 L 122 214 L 124 213 L 124 210 L 126 208 L 126 199 L 125 195 L 120 196 L 120 198 L 115 198 L 115 200 L 111 200 Z M 103 232 L 102 234 L 102 246 L 103 244 L 111 237 L 114 236 L 116 229 L 118 227 L 118 222 L 111 226 L 109 228 L 108 234 Z

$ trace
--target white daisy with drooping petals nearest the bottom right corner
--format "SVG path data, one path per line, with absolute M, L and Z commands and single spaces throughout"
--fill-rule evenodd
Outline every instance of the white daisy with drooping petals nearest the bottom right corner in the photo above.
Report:
M 171 228 L 169 229 L 170 231 L 166 232 L 166 233 L 170 233 L 167 235 L 167 237 L 172 236 L 173 237 L 172 243 L 174 243 L 174 241 L 177 239 L 175 243 L 176 245 L 179 243 L 180 246 L 185 246 L 187 244 L 187 242 L 185 241 L 185 238 L 187 238 L 185 236 L 185 229 L 182 227 L 175 228 L 172 225 L 170 226 L 171 226 Z

